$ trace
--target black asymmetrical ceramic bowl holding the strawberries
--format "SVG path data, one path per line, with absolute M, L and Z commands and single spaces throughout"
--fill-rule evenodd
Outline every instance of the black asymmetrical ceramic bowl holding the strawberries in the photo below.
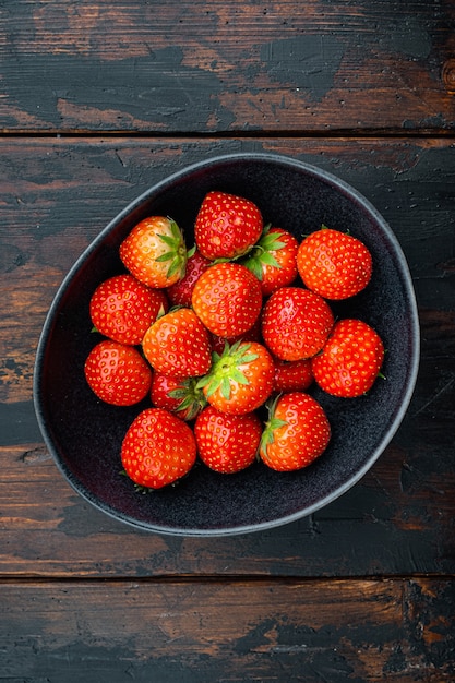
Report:
M 368 396 L 333 398 L 318 388 L 333 429 L 324 455 L 310 467 L 278 474 L 263 464 L 237 475 L 204 465 L 175 488 L 139 494 L 121 475 L 120 446 L 135 415 L 100 403 L 83 366 L 94 346 L 88 302 L 105 278 L 123 272 L 118 248 L 142 218 L 170 215 L 193 240 L 193 221 L 209 190 L 254 201 L 264 219 L 301 239 L 325 224 L 349 230 L 372 252 L 367 289 L 343 304 L 384 340 L 383 373 Z M 419 360 L 418 315 L 408 267 L 394 233 L 356 190 L 307 164 L 270 154 L 212 158 L 183 169 L 142 194 L 82 254 L 61 285 L 38 346 L 36 412 L 46 444 L 70 484 L 108 515 L 139 529 L 185 536 L 221 536 L 266 529 L 310 513 L 345 493 L 373 465 L 409 404 Z

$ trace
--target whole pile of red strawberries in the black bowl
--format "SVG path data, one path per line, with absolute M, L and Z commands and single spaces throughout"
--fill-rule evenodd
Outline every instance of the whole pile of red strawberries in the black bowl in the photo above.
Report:
M 351 235 L 322 226 L 299 243 L 253 202 L 213 191 L 194 240 L 188 250 L 175 220 L 145 218 L 120 245 L 125 273 L 89 304 L 104 339 L 86 359 L 88 385 L 115 406 L 148 402 L 121 446 L 145 489 L 173 483 L 197 455 L 224 474 L 258 458 L 306 467 L 331 439 L 311 384 L 360 396 L 384 356 L 371 326 L 336 321 L 330 304 L 371 279 L 371 254 Z

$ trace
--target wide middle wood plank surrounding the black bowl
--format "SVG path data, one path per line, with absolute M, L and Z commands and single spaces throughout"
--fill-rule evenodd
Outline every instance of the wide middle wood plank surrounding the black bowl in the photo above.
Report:
M 412 273 L 419 380 L 393 443 L 355 489 L 260 535 L 172 539 L 85 503 L 47 454 L 33 363 L 58 285 L 128 202 L 187 164 L 266 151 L 313 163 L 387 218 Z M 0 141 L 0 574 L 2 576 L 374 576 L 454 572 L 454 147 L 434 139 Z M 8 226 L 8 228 L 7 228 Z

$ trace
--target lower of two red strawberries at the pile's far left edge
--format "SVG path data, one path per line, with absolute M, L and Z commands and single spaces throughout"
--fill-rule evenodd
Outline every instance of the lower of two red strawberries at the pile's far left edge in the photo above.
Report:
M 115 406 L 132 406 L 151 388 L 152 370 L 137 349 L 111 339 L 92 349 L 84 372 L 98 398 Z

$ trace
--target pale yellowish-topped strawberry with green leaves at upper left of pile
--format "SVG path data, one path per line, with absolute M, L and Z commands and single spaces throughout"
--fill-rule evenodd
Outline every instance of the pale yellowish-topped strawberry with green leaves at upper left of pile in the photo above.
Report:
M 120 259 L 134 277 L 148 287 L 169 287 L 184 275 L 187 247 L 171 218 L 141 220 L 120 244 Z

